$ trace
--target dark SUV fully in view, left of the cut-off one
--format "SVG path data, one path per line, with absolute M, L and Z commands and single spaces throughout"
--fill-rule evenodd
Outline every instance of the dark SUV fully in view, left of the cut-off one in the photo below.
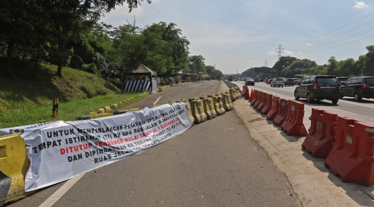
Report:
M 310 75 L 298 84 L 294 91 L 295 99 L 306 98 L 307 102 L 331 100 L 336 104 L 341 98 L 340 83 L 335 75 Z

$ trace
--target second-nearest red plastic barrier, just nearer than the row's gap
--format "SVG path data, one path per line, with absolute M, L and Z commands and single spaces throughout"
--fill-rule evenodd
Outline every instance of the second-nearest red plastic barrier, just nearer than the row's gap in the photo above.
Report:
M 312 156 L 324 159 L 332 149 L 332 142 L 335 142 L 337 114 L 312 108 L 309 120 L 309 133 L 301 146 Z

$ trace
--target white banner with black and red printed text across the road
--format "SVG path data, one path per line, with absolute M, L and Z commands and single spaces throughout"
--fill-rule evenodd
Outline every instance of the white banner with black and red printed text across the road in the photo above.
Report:
M 24 136 L 30 159 L 26 192 L 139 154 L 191 127 L 182 102 L 68 124 Z

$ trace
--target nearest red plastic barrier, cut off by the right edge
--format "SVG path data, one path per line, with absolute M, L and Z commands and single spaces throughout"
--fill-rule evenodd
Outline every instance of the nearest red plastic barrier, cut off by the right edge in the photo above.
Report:
M 374 126 L 337 116 L 335 145 L 325 165 L 342 181 L 371 186 L 374 183 Z

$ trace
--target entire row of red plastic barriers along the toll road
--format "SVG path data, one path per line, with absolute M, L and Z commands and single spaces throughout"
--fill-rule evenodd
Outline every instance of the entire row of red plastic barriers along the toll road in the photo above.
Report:
M 249 92 L 249 90 L 247 90 Z M 312 108 L 309 132 L 303 125 L 304 104 L 252 89 L 251 105 L 267 114 L 288 135 L 306 136 L 302 147 L 342 181 L 363 186 L 374 184 L 374 126 Z

